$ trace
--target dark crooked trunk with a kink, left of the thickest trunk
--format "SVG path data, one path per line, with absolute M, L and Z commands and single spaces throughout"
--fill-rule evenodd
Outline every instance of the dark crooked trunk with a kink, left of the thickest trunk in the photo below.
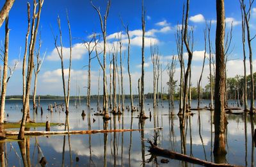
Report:
M 185 15 L 185 27 L 184 27 L 184 44 L 186 46 L 186 49 L 188 51 L 188 65 L 184 77 L 184 92 L 183 92 L 183 109 L 182 109 L 182 117 L 184 118 L 185 112 L 188 110 L 187 102 L 188 102 L 188 77 L 189 77 L 189 72 L 191 70 L 191 62 L 193 58 L 193 51 L 191 51 L 190 46 L 189 46 L 189 36 L 188 36 L 188 17 L 189 17 L 189 0 L 187 0 L 186 4 L 186 15 Z M 193 33 L 192 33 L 193 34 Z M 193 38 L 193 35 L 192 35 Z M 193 41 L 193 40 L 192 40 Z M 193 42 L 192 45 L 193 47 Z M 182 126 L 185 126 L 184 119 L 182 119 Z

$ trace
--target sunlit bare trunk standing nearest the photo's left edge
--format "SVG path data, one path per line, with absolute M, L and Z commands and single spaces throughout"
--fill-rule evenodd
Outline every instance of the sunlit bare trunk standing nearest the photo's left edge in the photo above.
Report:
M 9 50 L 9 33 L 8 28 L 8 16 L 5 21 L 5 40 L 4 40 L 4 67 L 3 67 L 3 84 L 1 92 L 1 108 L 0 108 L 0 123 L 4 123 L 4 107 L 5 107 L 5 96 L 7 87 L 7 70 L 8 70 L 8 50 Z

